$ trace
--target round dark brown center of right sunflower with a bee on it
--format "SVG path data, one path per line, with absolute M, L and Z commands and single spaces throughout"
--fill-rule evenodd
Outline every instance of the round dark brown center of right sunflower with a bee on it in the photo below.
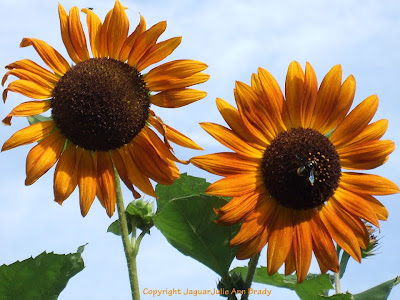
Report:
M 327 137 L 313 129 L 280 133 L 265 150 L 264 184 L 281 205 L 312 209 L 327 201 L 338 187 L 339 155 Z

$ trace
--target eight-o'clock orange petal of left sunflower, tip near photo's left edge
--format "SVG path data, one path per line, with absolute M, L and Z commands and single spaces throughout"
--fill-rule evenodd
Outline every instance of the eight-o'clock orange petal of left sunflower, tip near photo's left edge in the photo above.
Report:
M 14 133 L 3 145 L 1 151 L 30 144 L 47 137 L 55 128 L 54 121 L 45 121 L 25 127 Z

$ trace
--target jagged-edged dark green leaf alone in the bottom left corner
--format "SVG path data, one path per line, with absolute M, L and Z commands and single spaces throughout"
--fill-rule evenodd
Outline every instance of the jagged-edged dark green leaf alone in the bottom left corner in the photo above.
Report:
M 69 279 L 84 268 L 82 251 L 54 254 L 43 252 L 35 258 L 0 267 L 0 300 L 56 300 Z

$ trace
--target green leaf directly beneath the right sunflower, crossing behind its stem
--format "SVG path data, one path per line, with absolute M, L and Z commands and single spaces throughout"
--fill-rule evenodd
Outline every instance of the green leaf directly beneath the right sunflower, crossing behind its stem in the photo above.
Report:
M 247 274 L 247 267 L 237 267 L 231 271 L 242 274 L 243 277 Z M 275 273 L 269 276 L 267 268 L 259 267 L 254 274 L 253 282 L 264 283 L 272 286 L 283 287 L 293 290 L 297 293 L 300 299 L 304 300 L 322 300 L 326 299 L 326 292 L 333 289 L 332 283 L 328 274 L 316 275 L 309 274 L 302 283 L 297 283 L 295 275 L 283 276 Z

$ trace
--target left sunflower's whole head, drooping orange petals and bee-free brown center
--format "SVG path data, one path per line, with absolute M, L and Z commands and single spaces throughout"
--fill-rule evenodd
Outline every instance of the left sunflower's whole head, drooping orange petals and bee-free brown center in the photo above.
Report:
M 183 59 L 143 73 L 181 42 L 181 37 L 157 42 L 166 29 L 165 21 L 146 30 L 140 16 L 136 29 L 128 35 L 129 21 L 118 0 L 104 23 L 92 10 L 82 11 L 92 57 L 79 9 L 71 8 L 68 15 L 59 4 L 61 36 L 74 65 L 44 41 L 24 38 L 20 46 L 33 46 L 50 70 L 29 59 L 6 66 L 9 71 L 3 85 L 9 75 L 19 79 L 7 86 L 3 100 L 9 91 L 37 100 L 16 106 L 3 123 L 10 125 L 14 116 L 33 116 L 50 109 L 51 119 L 16 132 L 2 151 L 39 141 L 27 156 L 25 184 L 33 184 L 58 161 L 55 201 L 61 204 L 79 186 L 83 216 L 97 196 L 111 217 L 116 203 L 114 167 L 135 198 L 140 194 L 134 186 L 155 197 L 149 179 L 171 184 L 179 177 L 175 162 L 188 163 L 175 157 L 169 141 L 201 149 L 164 124 L 150 104 L 176 108 L 200 100 L 206 93 L 188 87 L 207 81 L 209 75 L 202 73 L 206 64 Z

